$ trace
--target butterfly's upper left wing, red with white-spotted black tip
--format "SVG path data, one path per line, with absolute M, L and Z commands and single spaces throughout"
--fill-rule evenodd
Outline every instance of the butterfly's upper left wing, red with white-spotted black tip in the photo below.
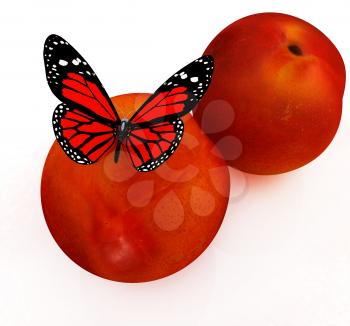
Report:
M 97 118 L 120 122 L 95 72 L 67 41 L 50 35 L 44 45 L 44 62 L 50 89 L 63 103 Z

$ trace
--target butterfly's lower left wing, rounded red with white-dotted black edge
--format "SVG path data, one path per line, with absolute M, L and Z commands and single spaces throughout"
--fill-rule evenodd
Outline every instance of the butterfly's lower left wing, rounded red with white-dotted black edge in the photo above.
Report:
M 116 139 L 112 126 L 64 103 L 55 109 L 52 123 L 62 149 L 70 159 L 80 164 L 96 162 Z

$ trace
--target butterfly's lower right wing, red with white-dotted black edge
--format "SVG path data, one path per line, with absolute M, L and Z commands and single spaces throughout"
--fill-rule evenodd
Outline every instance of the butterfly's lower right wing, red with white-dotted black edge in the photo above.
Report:
M 184 132 L 181 119 L 155 124 L 132 125 L 126 147 L 134 167 L 141 172 L 152 171 L 176 150 Z

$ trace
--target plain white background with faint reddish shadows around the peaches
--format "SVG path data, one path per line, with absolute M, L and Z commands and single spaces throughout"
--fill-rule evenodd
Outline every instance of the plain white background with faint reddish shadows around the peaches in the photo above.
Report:
M 7 1 L 0 12 L 0 325 L 350 325 L 349 93 L 336 138 L 280 176 L 232 172 L 225 221 L 205 253 L 145 284 L 95 277 L 47 230 L 40 177 L 54 140 L 42 62 L 65 37 L 111 96 L 151 92 L 238 18 L 299 16 L 350 62 L 348 1 Z

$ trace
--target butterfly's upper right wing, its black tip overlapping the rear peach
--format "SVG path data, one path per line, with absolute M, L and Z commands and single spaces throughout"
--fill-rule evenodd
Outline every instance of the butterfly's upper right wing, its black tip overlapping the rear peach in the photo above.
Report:
M 160 86 L 130 121 L 156 123 L 189 113 L 208 89 L 213 69 L 211 56 L 191 62 Z

